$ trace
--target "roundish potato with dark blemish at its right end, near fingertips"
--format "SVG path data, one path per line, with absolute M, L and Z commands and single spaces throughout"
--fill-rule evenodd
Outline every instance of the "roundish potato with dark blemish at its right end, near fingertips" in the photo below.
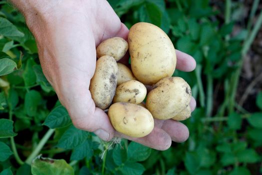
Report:
M 147 95 L 146 108 L 157 119 L 170 119 L 189 105 L 191 88 L 181 77 L 165 77 Z

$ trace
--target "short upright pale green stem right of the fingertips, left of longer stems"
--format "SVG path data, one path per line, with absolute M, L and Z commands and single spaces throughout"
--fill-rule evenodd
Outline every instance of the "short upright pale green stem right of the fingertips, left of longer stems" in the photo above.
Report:
M 208 117 L 211 116 L 213 110 L 213 78 L 211 74 L 207 75 L 207 111 L 206 114 Z

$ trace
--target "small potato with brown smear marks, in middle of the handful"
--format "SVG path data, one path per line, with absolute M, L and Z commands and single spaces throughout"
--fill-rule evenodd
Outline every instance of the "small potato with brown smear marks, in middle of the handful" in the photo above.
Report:
M 146 87 L 137 80 L 123 82 L 116 88 L 113 102 L 130 102 L 138 104 L 146 97 Z

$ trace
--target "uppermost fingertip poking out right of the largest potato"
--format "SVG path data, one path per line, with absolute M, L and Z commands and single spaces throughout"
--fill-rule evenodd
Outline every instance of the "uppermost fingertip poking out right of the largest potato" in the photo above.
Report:
M 176 50 L 177 69 L 182 71 L 192 71 L 196 68 L 196 60 L 187 53 Z

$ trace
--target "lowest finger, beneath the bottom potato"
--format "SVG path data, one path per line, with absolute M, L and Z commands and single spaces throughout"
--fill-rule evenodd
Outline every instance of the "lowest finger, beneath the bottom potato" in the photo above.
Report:
M 172 140 L 167 132 L 159 127 L 154 127 L 152 132 L 141 138 L 129 137 L 127 135 L 121 134 L 119 132 L 115 133 L 118 137 L 123 137 L 138 143 L 141 143 L 145 146 L 157 149 L 157 150 L 166 150 L 171 146 Z

